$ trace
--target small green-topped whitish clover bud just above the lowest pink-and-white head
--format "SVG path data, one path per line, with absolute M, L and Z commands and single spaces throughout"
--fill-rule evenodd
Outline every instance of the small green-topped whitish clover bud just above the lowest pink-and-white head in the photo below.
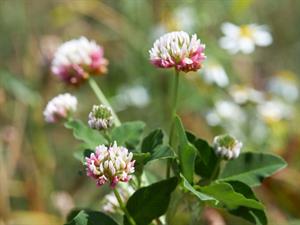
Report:
M 112 127 L 113 122 L 112 109 L 105 105 L 94 105 L 89 113 L 88 124 L 92 129 L 105 130 Z

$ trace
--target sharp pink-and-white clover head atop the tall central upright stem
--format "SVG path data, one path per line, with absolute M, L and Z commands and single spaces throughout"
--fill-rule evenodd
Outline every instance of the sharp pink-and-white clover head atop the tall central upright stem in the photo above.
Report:
M 205 45 L 200 43 L 197 35 L 190 37 L 184 31 L 176 31 L 161 36 L 154 42 L 150 61 L 161 68 L 174 67 L 177 71 L 197 71 L 205 60 Z

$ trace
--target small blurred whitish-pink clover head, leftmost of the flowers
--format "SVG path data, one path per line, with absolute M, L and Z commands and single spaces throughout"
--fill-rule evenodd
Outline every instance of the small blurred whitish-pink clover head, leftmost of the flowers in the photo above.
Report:
M 77 109 L 77 98 L 69 93 L 60 94 L 48 102 L 44 117 L 46 122 L 54 123 L 66 119 Z

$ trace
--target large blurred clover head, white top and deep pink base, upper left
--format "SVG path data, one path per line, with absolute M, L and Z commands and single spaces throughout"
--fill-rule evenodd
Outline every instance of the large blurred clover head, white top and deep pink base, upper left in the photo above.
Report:
M 107 71 L 103 48 L 85 37 L 62 44 L 54 55 L 52 72 L 67 84 L 79 85 L 90 75 Z

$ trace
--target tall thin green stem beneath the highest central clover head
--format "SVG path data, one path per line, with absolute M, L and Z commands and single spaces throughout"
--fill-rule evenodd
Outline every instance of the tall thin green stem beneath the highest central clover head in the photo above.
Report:
M 174 133 L 174 119 L 176 116 L 176 110 L 177 110 L 177 102 L 178 102 L 178 88 L 179 88 L 179 71 L 175 69 L 175 78 L 174 78 L 174 87 L 173 87 L 173 95 L 172 95 L 172 110 L 171 110 L 171 127 L 170 127 L 170 132 L 169 132 L 169 144 L 172 146 L 173 142 L 173 133 Z M 170 177 L 171 173 L 171 164 L 172 164 L 172 159 L 168 160 L 167 163 L 167 172 L 166 172 L 166 177 Z

